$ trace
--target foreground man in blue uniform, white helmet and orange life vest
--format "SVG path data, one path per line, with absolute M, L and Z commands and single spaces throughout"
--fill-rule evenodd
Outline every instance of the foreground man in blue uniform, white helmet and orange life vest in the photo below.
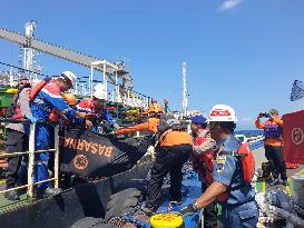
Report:
M 243 166 L 244 158 L 238 156 L 239 149 L 244 147 L 233 136 L 237 121 L 235 111 L 225 105 L 214 106 L 208 121 L 210 136 L 216 141 L 213 184 L 193 204 L 183 208 L 180 214 L 195 214 L 217 200 L 223 208 L 220 221 L 224 228 L 254 228 L 258 220 L 255 191 L 249 184 L 254 165 Z M 248 147 L 245 149 L 249 150 Z M 248 174 L 249 180 L 246 179 Z

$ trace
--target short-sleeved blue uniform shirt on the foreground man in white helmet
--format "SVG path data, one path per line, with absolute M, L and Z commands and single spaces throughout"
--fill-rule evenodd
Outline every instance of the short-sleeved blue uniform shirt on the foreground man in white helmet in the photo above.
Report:
M 216 145 L 213 180 L 228 187 L 227 201 L 219 202 L 225 207 L 254 201 L 255 191 L 244 181 L 242 162 L 238 157 L 232 155 L 239 149 L 239 146 L 241 142 L 233 136 Z

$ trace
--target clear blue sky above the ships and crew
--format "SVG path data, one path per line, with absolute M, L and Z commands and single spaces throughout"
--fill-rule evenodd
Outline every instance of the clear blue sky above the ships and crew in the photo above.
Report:
M 259 111 L 304 109 L 290 101 L 304 77 L 303 0 L 0 0 L 0 27 L 116 61 L 125 57 L 135 90 L 182 108 L 187 62 L 189 109 L 235 108 L 238 129 L 254 128 Z M 0 40 L 0 61 L 18 65 L 18 46 Z M 45 73 L 89 69 L 39 57 Z M 0 70 L 3 70 L 1 67 Z

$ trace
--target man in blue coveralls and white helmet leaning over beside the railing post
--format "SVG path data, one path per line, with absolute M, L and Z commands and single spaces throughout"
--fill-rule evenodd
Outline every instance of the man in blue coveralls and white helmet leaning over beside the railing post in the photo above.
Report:
M 61 97 L 61 92 L 71 89 L 76 80 L 76 76 L 70 71 L 65 71 L 60 76 L 51 79 L 30 103 L 32 116 L 27 116 L 27 118 L 33 123 L 38 120 L 57 122 L 58 118 L 53 115 L 55 110 L 67 118 L 73 118 L 75 116 L 86 118 L 86 113 L 71 109 Z M 53 137 L 50 132 L 51 127 L 49 125 L 36 125 L 36 150 L 48 150 L 51 148 L 51 139 Z M 35 158 L 35 182 L 48 179 L 49 152 L 36 153 Z M 45 194 L 56 195 L 58 190 L 49 188 L 48 182 L 37 185 L 37 197 L 40 198 Z

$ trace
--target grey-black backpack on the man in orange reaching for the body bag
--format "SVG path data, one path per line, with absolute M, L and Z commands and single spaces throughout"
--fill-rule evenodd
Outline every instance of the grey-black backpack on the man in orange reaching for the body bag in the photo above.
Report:
M 173 115 L 161 115 L 154 139 L 157 142 L 160 136 L 169 130 L 186 131 L 187 126 L 188 123 L 186 121 L 178 120 Z

